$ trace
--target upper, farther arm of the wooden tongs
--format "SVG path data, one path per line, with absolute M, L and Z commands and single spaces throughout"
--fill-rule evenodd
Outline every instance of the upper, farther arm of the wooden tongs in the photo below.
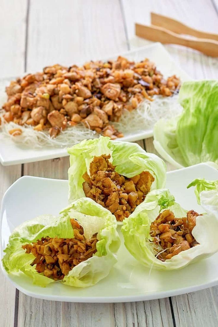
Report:
M 151 24 L 168 29 L 177 34 L 188 34 L 201 39 L 211 39 L 218 41 L 218 34 L 206 33 L 197 29 L 191 28 L 176 19 L 172 19 L 163 15 L 151 12 Z

